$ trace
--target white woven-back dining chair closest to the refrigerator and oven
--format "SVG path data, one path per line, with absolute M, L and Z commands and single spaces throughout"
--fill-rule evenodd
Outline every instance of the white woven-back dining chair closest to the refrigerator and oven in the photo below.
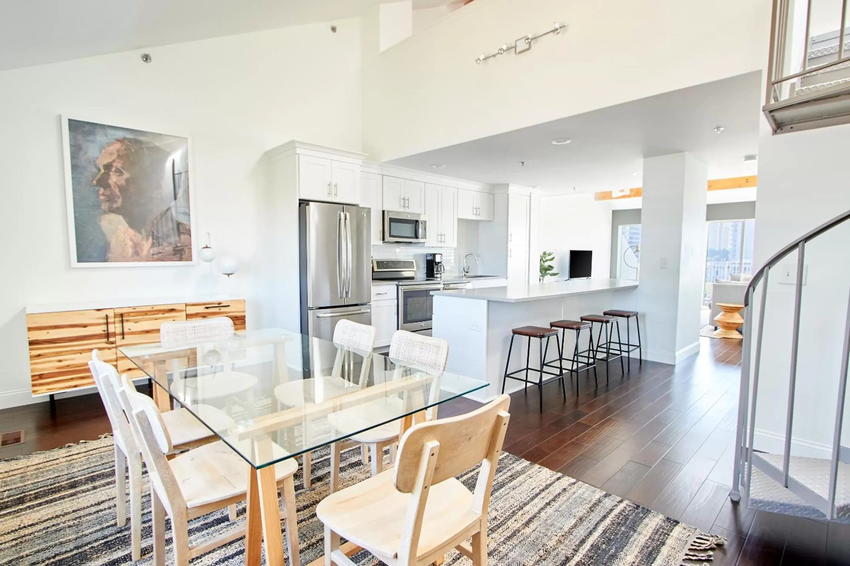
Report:
M 337 355 L 334 357 L 333 368 L 329 378 L 309 378 L 309 379 L 294 379 L 285 384 L 280 384 L 275 387 L 275 397 L 284 406 L 303 406 L 304 393 L 314 392 L 316 389 L 316 380 L 321 379 L 321 400 L 330 399 L 338 395 L 345 395 L 351 390 L 354 376 L 353 368 L 355 358 L 359 357 L 363 360 L 360 366 L 360 377 L 357 380 L 357 387 L 363 388 L 369 379 L 369 370 L 371 368 L 371 351 L 375 347 L 375 327 L 349 320 L 341 320 L 337 322 L 337 326 L 333 329 L 333 344 L 337 346 Z M 343 370 L 346 378 L 343 378 Z M 305 423 L 304 434 L 310 434 L 309 423 Z M 365 446 L 361 447 L 363 461 L 365 463 Z M 303 477 L 304 488 L 310 487 L 310 466 L 312 462 L 312 452 L 305 452 L 303 455 Z

